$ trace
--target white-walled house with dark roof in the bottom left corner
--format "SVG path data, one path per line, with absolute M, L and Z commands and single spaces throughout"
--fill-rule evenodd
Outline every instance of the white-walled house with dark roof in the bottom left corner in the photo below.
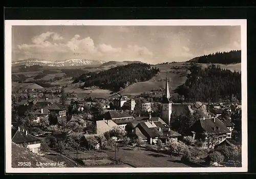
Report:
M 19 127 L 18 127 L 18 130 L 16 130 L 14 134 L 13 133 L 12 133 L 12 142 L 14 142 L 15 144 L 18 144 L 19 146 L 26 146 L 33 153 L 39 154 L 41 139 L 30 135 L 27 130 L 26 131 L 24 129 L 21 130 Z

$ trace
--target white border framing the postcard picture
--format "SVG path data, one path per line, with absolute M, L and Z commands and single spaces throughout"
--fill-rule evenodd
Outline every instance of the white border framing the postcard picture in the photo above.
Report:
M 216 168 L 12 168 L 11 167 L 11 50 L 12 26 L 241 26 L 242 50 L 242 167 Z M 6 173 L 169 173 L 247 172 L 247 36 L 246 19 L 172 20 L 5 20 L 5 160 Z

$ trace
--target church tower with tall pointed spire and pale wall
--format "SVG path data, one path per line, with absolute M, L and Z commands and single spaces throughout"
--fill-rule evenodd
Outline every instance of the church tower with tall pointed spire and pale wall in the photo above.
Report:
M 170 124 L 170 115 L 172 114 L 172 104 L 173 104 L 173 102 L 170 101 L 169 98 L 170 98 L 170 92 L 169 92 L 168 77 L 166 73 L 165 92 L 162 99 L 162 119 L 167 124 Z

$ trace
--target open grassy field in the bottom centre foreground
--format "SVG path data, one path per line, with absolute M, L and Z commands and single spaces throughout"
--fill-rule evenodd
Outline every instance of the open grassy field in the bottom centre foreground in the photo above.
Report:
M 115 158 L 115 151 L 106 151 L 110 156 Z M 116 152 L 117 159 L 129 163 L 135 167 L 189 167 L 180 162 L 179 157 L 170 158 L 167 154 L 156 153 L 140 148 L 119 147 Z

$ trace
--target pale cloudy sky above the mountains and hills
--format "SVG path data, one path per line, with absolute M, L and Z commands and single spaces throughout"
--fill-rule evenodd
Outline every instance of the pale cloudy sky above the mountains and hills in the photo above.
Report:
M 12 26 L 12 61 L 187 61 L 241 50 L 240 26 Z

